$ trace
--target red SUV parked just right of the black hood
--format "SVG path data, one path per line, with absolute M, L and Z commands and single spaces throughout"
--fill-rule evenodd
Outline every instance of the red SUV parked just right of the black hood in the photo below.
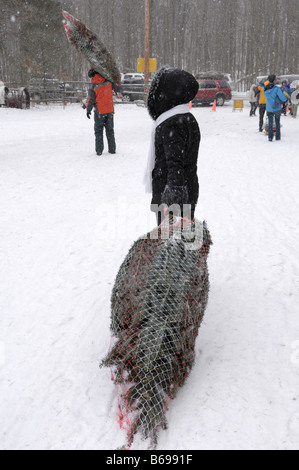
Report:
M 199 90 L 193 100 L 193 105 L 211 104 L 216 100 L 217 106 L 223 106 L 232 99 L 232 90 L 226 80 L 200 79 Z

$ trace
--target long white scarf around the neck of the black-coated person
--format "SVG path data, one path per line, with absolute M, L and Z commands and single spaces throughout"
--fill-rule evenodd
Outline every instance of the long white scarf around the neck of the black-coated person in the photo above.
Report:
M 143 179 L 146 193 L 152 193 L 153 191 L 152 173 L 155 168 L 155 162 L 156 162 L 155 135 L 156 135 L 157 127 L 160 126 L 162 122 L 166 121 L 167 119 L 173 116 L 176 116 L 177 114 L 187 114 L 189 112 L 190 112 L 190 109 L 189 109 L 188 103 L 180 104 L 179 106 L 176 106 L 175 108 L 172 108 L 169 111 L 166 111 L 165 113 L 161 114 L 161 116 L 159 116 L 158 119 L 154 121 L 153 128 L 152 128 L 151 143 L 150 143 L 148 159 L 147 159 L 147 167 L 146 167 L 144 179 Z

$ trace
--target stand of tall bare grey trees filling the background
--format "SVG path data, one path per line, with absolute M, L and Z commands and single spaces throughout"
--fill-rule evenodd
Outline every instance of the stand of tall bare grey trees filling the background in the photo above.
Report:
M 36 25 L 30 18 L 34 3 L 54 8 L 49 18 L 49 25 L 57 25 L 52 40 L 43 22 Z M 47 42 L 55 50 L 55 61 L 44 65 L 47 73 L 68 80 L 86 78 L 88 64 L 64 35 L 62 9 L 99 34 L 121 71 L 136 70 L 144 51 L 143 0 L 0 0 L 3 79 L 23 80 L 28 69 L 34 70 L 32 62 L 31 68 L 26 62 L 22 41 L 26 25 L 32 23 L 29 39 L 39 48 L 40 58 L 44 51 L 44 64 Z M 299 73 L 299 0 L 150 0 L 150 12 L 150 54 L 158 66 L 231 73 L 242 88 L 258 74 Z M 30 56 L 36 61 L 34 50 Z

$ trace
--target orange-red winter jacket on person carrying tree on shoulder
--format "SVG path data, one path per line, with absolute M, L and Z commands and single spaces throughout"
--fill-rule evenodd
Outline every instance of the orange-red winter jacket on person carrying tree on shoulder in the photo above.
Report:
M 91 83 L 87 99 L 87 112 L 91 113 L 92 109 L 96 107 L 100 114 L 113 113 L 112 83 L 105 80 L 100 74 L 95 75 Z

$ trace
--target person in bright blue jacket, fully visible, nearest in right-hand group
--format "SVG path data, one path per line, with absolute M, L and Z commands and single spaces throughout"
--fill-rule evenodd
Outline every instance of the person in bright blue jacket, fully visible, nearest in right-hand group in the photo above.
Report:
M 280 135 L 280 117 L 281 117 L 281 105 L 285 103 L 288 98 L 284 95 L 283 90 L 277 86 L 279 80 L 276 75 L 269 75 L 269 84 L 265 87 L 265 97 L 267 98 L 266 111 L 269 122 L 269 142 L 273 141 L 273 122 L 275 119 L 276 123 L 276 140 L 281 139 Z

